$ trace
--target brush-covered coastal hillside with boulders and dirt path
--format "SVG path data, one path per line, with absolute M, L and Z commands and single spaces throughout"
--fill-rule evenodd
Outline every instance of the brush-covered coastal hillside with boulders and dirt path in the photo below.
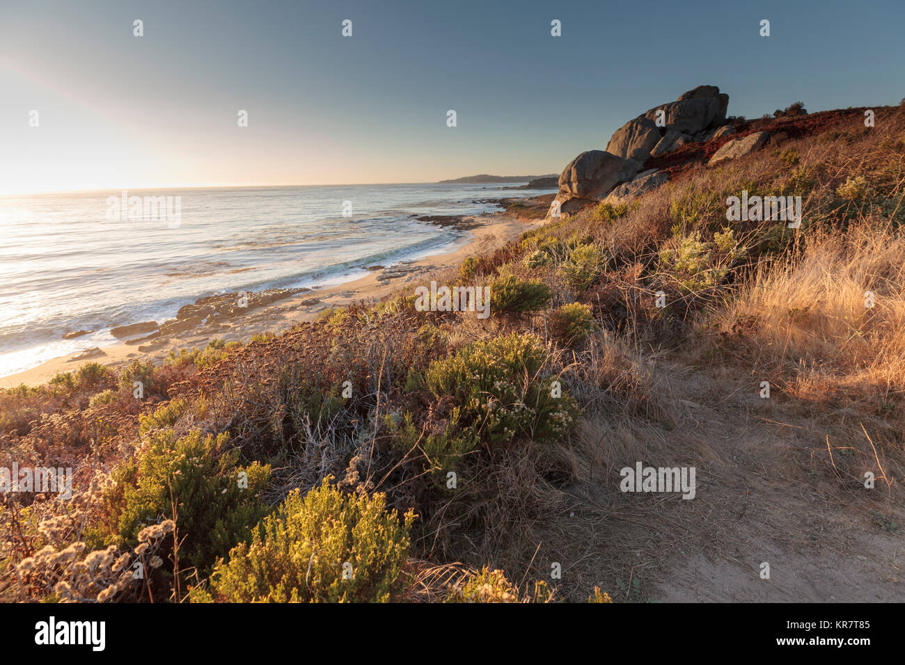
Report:
M 0 391 L 0 466 L 74 470 L 0 598 L 905 600 L 905 107 L 601 142 L 377 302 Z

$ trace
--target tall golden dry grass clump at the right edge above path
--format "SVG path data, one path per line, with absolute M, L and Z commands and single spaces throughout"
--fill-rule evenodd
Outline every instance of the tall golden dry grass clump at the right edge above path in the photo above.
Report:
M 758 368 L 816 391 L 905 389 L 905 238 L 863 220 L 817 232 L 801 256 L 755 271 L 712 316 Z

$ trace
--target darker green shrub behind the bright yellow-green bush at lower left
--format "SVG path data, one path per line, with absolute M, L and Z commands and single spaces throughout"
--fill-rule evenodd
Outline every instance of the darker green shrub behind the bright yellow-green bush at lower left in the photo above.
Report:
M 135 546 L 142 528 L 176 518 L 180 567 L 206 571 L 247 538 L 266 513 L 258 495 L 271 468 L 239 466 L 238 451 L 224 451 L 227 439 L 198 431 L 178 439 L 172 431 L 152 434 L 133 468 L 120 474 L 135 481 L 123 491 L 119 544 Z

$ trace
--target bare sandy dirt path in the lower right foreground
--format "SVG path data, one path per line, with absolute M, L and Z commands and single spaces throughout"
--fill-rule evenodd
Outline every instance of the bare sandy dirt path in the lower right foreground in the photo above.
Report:
M 672 430 L 628 420 L 586 427 L 586 478 L 541 529 L 538 551 L 571 576 L 561 587 L 568 600 L 596 584 L 622 601 L 905 601 L 901 494 L 854 480 L 877 464 L 870 445 L 846 450 L 850 414 L 802 416 L 782 395 L 760 399 L 744 377 L 687 372 L 672 387 L 682 414 Z M 901 452 L 882 448 L 887 471 Z M 695 498 L 621 492 L 619 469 L 635 461 L 695 466 Z

